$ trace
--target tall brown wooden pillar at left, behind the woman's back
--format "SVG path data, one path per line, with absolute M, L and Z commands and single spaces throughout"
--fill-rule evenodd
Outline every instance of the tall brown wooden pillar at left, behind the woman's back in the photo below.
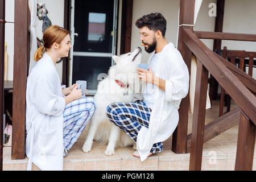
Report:
M 13 67 L 13 140 L 11 159 L 25 158 L 26 86 L 30 37 L 28 0 L 15 0 Z

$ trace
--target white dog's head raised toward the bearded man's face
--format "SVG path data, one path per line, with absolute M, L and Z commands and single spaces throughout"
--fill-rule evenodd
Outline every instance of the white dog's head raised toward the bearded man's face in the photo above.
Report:
M 121 56 L 112 56 L 115 61 L 116 73 L 136 73 L 138 64 L 141 63 L 142 49 L 136 48 L 133 52 Z

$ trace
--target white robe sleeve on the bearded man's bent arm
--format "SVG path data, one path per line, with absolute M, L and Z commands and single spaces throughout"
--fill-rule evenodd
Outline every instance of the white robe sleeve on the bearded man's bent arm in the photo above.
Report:
M 170 76 L 165 85 L 167 102 L 181 100 L 187 96 L 189 88 L 189 73 L 185 63 L 170 70 Z

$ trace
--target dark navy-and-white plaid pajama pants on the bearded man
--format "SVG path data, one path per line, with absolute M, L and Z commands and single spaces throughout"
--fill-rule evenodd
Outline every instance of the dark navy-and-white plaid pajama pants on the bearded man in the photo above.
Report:
M 148 128 L 151 109 L 143 101 L 115 103 L 107 107 L 106 114 L 111 122 L 136 142 L 141 127 Z M 159 142 L 153 145 L 150 152 L 154 154 L 161 151 L 163 151 L 163 143 Z

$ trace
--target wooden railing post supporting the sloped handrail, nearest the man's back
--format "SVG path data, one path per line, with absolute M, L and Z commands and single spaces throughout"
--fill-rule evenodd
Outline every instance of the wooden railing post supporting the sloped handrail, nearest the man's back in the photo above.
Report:
M 207 101 L 208 70 L 197 60 L 196 92 L 193 110 L 192 137 L 189 170 L 201 170 L 205 106 Z

